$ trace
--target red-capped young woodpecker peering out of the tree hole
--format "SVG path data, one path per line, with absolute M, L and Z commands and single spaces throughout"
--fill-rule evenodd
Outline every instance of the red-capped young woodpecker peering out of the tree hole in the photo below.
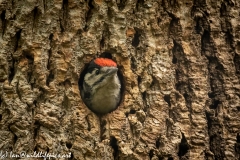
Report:
M 96 58 L 90 62 L 80 92 L 93 112 L 106 114 L 117 108 L 121 89 L 117 71 L 117 64 L 111 59 Z

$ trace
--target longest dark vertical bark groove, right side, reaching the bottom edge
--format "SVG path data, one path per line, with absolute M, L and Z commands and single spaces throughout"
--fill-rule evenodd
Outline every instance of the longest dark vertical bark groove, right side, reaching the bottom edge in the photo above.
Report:
M 210 150 L 214 153 L 214 156 L 217 159 L 223 159 L 224 148 L 221 146 L 224 145 L 224 139 L 222 138 L 223 129 L 220 119 L 218 118 L 218 110 L 220 97 L 224 96 L 223 90 L 223 79 L 221 78 L 221 71 L 223 67 L 219 64 L 218 59 L 215 56 L 216 50 L 213 47 L 213 42 L 211 40 L 210 34 L 208 31 L 205 31 L 202 36 L 202 54 L 205 55 L 208 59 L 208 71 L 209 71 L 209 81 L 211 92 L 208 93 L 209 98 L 211 98 L 210 109 L 214 109 L 215 112 L 213 115 L 207 113 L 208 128 L 209 128 L 209 137 L 210 137 Z

